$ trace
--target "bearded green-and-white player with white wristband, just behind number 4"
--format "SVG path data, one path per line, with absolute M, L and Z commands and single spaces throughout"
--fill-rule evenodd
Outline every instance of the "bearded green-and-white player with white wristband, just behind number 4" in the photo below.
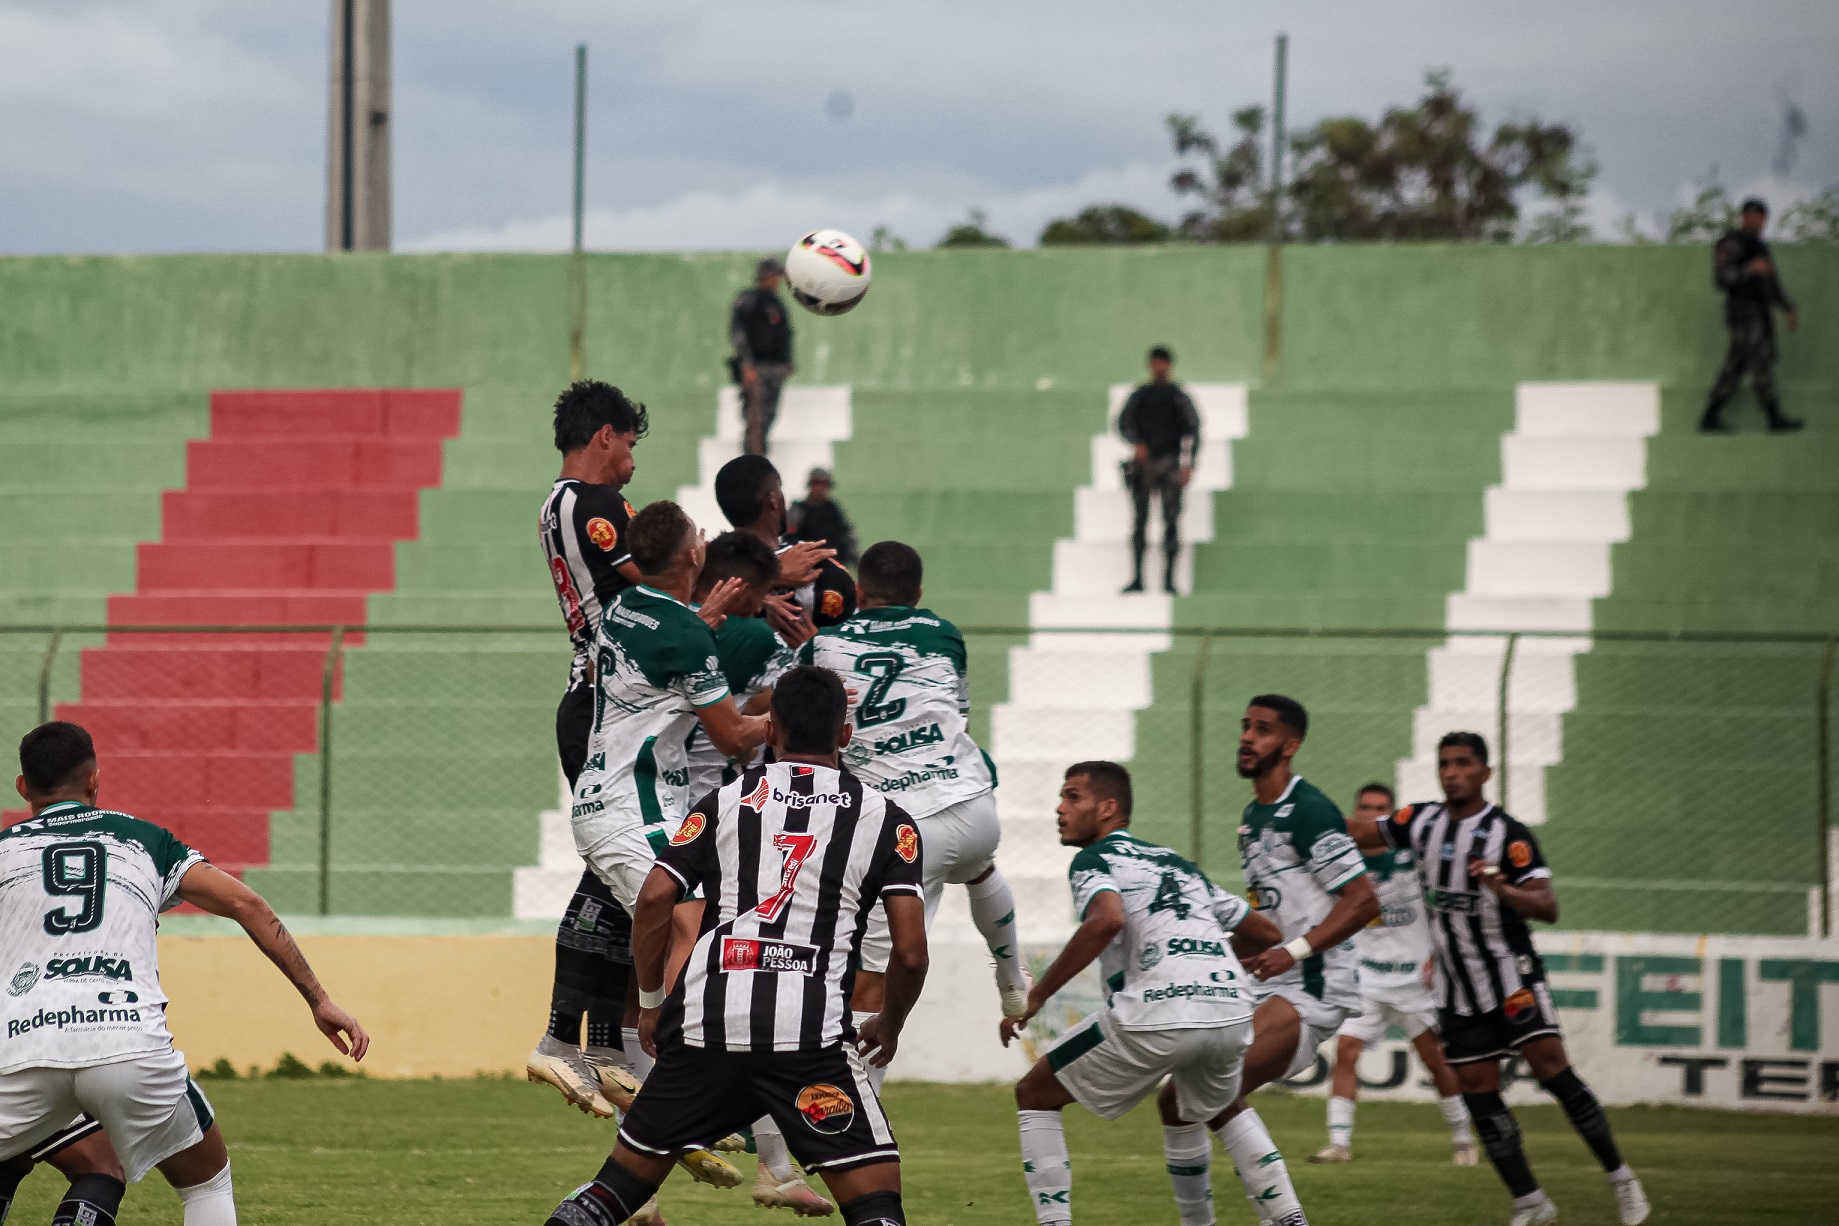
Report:
M 1252 906 L 1276 921 L 1287 943 L 1245 963 L 1263 993 L 1256 1039 L 1245 1055 L 1245 1092 L 1206 1121 L 1241 1178 L 1256 1167 L 1262 1180 L 1271 1180 L 1263 1189 L 1247 1180 L 1252 1208 L 1267 1222 L 1278 1220 L 1269 1217 L 1271 1200 L 1295 1193 L 1271 1130 L 1245 1094 L 1309 1068 L 1315 1050 L 1359 1013 L 1352 936 L 1379 915 L 1341 809 L 1289 768 L 1308 730 L 1309 713 L 1284 695 L 1258 695 L 1239 721 L 1238 770 L 1252 781 L 1252 801 L 1239 822 L 1239 864 Z M 1170 1103 L 1164 1090 L 1164 1110 Z M 1199 1165 L 1208 1162 L 1205 1147 L 1177 1151 L 1173 1138 L 1168 1154 L 1170 1165 L 1195 1156 Z

